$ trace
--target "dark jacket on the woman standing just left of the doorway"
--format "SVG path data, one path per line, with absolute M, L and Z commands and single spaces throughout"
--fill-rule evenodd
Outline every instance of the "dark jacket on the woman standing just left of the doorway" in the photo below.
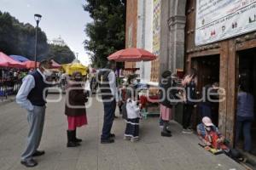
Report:
M 162 90 L 160 90 L 160 99 L 162 99 L 162 101 L 160 101 L 161 105 L 165 105 L 168 108 L 172 108 L 171 105 L 171 101 L 168 99 L 167 95 L 170 96 L 170 94 L 168 94 L 168 89 L 172 87 L 172 78 L 161 78 L 160 81 L 160 88 L 163 88 Z M 164 90 L 164 91 L 163 91 Z M 169 90 L 169 92 L 171 92 Z M 166 96 L 164 96 L 164 93 L 166 94 Z

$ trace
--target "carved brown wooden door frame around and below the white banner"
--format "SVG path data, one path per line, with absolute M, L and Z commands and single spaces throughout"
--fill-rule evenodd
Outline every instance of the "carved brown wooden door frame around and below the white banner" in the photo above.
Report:
M 218 127 L 230 144 L 234 144 L 236 96 L 238 87 L 238 52 L 248 48 L 256 48 L 256 31 L 233 37 L 221 42 L 213 42 L 207 45 L 195 45 L 195 10 L 196 1 L 187 1 L 187 23 L 185 31 L 185 69 L 193 65 L 193 59 L 199 57 L 207 59 L 208 56 L 219 56 L 219 85 L 225 90 L 225 99 L 219 103 Z M 199 76 L 204 73 L 198 71 Z M 200 89 L 199 89 L 200 90 Z

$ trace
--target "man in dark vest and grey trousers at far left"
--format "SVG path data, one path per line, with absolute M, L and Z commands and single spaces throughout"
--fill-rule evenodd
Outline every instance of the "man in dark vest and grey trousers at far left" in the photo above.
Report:
M 48 78 L 52 74 L 49 70 L 50 67 L 50 61 L 41 61 L 36 71 L 24 77 L 16 96 L 16 102 L 27 111 L 27 121 L 29 123 L 26 149 L 22 153 L 20 161 L 26 167 L 37 166 L 38 162 L 33 157 L 44 155 L 44 151 L 39 151 L 38 146 L 44 128 L 46 89 L 49 87 Z

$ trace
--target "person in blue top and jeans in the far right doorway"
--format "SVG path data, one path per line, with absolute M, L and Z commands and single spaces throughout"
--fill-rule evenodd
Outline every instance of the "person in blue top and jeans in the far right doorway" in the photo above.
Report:
M 254 119 L 254 99 L 245 83 L 241 84 L 237 97 L 236 111 L 236 144 L 239 141 L 241 130 L 244 137 L 244 150 L 252 151 L 251 127 Z

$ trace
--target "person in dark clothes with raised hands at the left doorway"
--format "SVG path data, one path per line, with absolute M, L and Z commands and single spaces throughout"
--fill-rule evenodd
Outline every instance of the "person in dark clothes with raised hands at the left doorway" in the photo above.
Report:
M 193 133 L 189 129 L 189 126 L 195 107 L 195 101 L 193 99 L 196 99 L 197 75 L 195 69 L 190 69 L 188 74 L 183 78 L 182 85 L 186 91 L 183 109 L 183 133 Z

